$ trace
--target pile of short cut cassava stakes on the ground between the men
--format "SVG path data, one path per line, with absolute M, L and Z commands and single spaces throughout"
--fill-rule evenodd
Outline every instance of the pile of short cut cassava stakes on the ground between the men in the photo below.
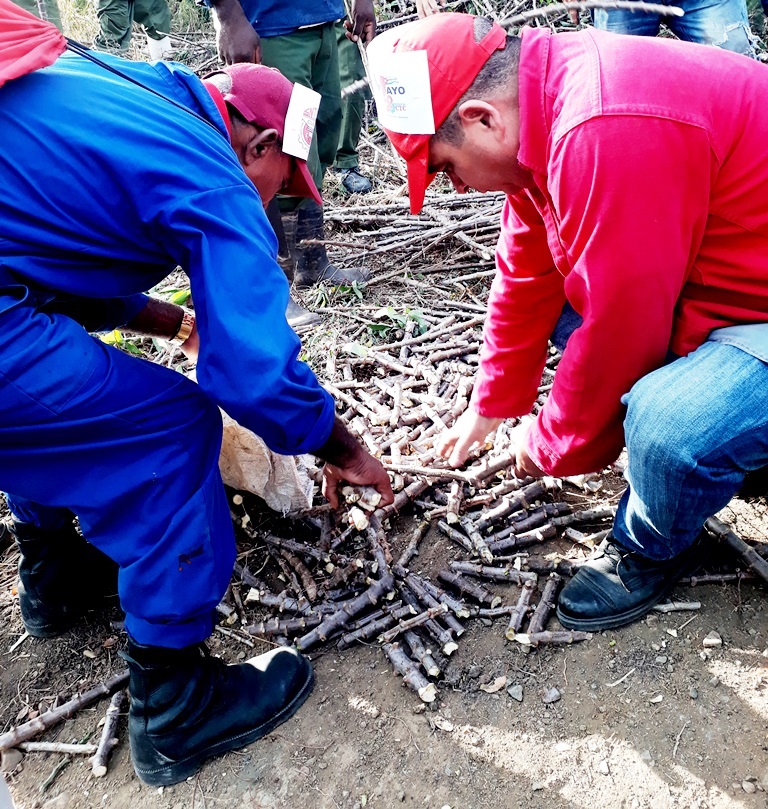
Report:
M 304 652 L 379 644 L 424 702 L 434 701 L 469 619 L 503 621 L 500 634 L 527 649 L 588 639 L 584 632 L 549 631 L 547 621 L 564 577 L 609 533 L 614 514 L 611 505 L 563 502 L 563 481 L 516 479 L 506 425 L 461 470 L 437 457 L 438 435 L 467 407 L 483 320 L 472 304 L 446 301 L 443 307 L 431 310 L 429 324 L 420 322 L 429 326 L 424 333 L 415 334 L 417 321 L 408 320 L 398 342 L 343 346 L 326 366 L 333 381 L 323 384 L 349 428 L 391 472 L 395 503 L 380 508 L 375 491 L 348 487 L 342 513 L 324 505 L 293 515 L 301 530 L 283 531 L 291 538 L 281 538 L 252 528 L 236 495 L 233 517 L 251 549 L 236 565 L 236 604 L 220 607 L 232 623 L 249 607 L 259 609 L 263 620 L 244 620 L 250 636 L 294 643 Z M 551 387 L 558 359 L 552 352 L 534 409 Z M 597 476 L 570 483 L 587 490 L 600 485 Z M 394 554 L 390 521 L 396 512 L 399 525 L 410 518 L 412 527 Z M 307 524 L 313 535 L 298 541 Z M 588 526 L 593 533 L 581 530 Z M 427 577 L 410 566 L 431 527 L 465 558 Z M 232 632 L 226 621 L 220 631 Z

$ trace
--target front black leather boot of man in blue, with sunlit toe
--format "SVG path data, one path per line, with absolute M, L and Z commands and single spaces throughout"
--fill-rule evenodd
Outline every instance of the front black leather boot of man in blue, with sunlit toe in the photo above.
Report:
M 296 713 L 315 682 L 312 666 L 290 648 L 228 666 L 204 644 L 163 649 L 129 641 L 123 657 L 133 766 L 150 786 L 183 781 L 207 758 L 271 733 Z

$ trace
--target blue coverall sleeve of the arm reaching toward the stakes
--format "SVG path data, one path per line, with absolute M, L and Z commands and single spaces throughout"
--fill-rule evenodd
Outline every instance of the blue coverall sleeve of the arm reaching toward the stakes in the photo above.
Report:
M 199 384 L 274 452 L 319 449 L 334 401 L 298 360 L 301 343 L 285 319 L 288 282 L 256 190 L 243 183 L 201 192 L 161 219 L 189 273 Z

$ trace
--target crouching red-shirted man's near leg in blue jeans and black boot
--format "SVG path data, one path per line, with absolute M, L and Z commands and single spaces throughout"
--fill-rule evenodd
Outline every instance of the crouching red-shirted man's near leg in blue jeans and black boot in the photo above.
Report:
M 768 464 L 768 365 L 707 342 L 624 397 L 629 486 L 609 540 L 563 590 L 558 617 L 599 631 L 642 617 L 698 562 L 705 521 Z

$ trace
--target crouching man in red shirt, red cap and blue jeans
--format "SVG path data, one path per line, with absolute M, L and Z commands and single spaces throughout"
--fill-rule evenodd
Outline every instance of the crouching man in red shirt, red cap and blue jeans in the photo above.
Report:
M 380 35 L 369 61 L 412 211 L 440 171 L 507 194 L 472 406 L 441 453 L 458 466 L 530 411 L 570 314 L 515 471 L 598 470 L 626 444 L 613 536 L 558 615 L 590 630 L 635 620 L 768 464 L 768 70 L 591 29 L 510 37 L 461 14 Z

